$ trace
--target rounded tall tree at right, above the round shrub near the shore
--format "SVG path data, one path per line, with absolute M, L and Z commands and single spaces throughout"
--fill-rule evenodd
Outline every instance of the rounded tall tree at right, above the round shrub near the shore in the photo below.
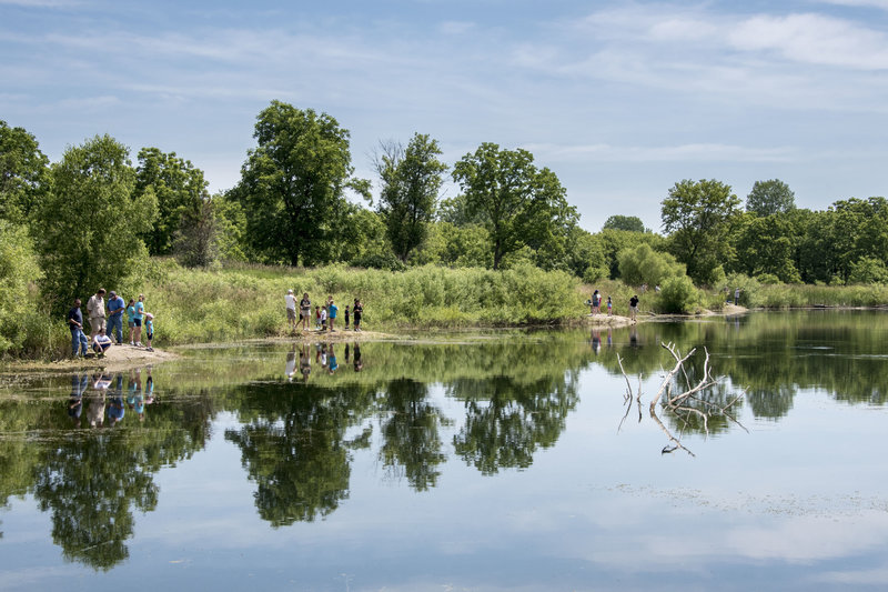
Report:
M 727 237 L 739 202 L 730 185 L 715 179 L 685 179 L 663 200 L 660 214 L 669 234 L 669 250 L 695 282 L 714 283 L 729 260 Z

